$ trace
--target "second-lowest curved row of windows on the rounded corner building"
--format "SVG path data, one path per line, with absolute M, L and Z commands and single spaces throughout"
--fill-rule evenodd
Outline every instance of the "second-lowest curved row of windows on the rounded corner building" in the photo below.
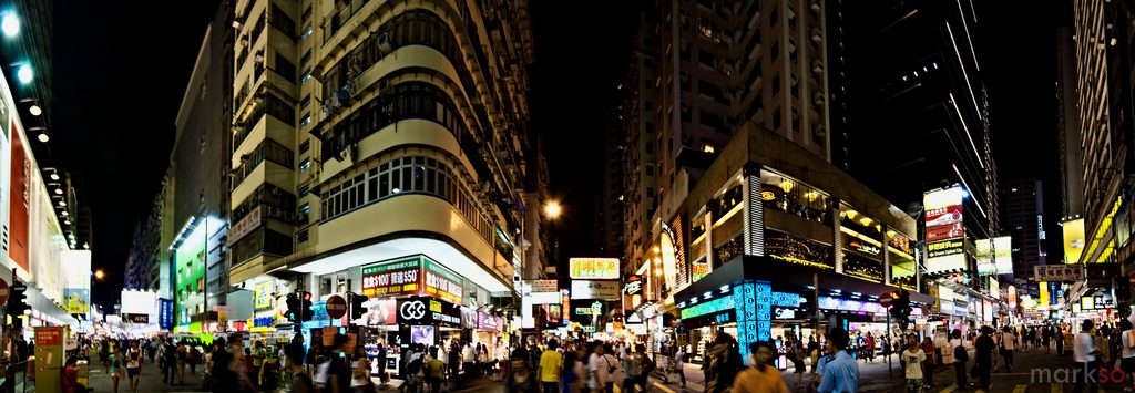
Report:
M 445 91 L 424 82 L 411 82 L 395 85 L 394 94 L 368 102 L 336 123 L 323 140 L 322 161 L 336 157 L 351 144 L 405 119 L 435 121 L 453 133 L 462 145 L 472 140 L 461 113 Z

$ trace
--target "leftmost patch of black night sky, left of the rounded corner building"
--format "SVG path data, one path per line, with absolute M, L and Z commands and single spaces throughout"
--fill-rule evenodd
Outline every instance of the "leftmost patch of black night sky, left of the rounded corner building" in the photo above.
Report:
M 149 213 L 174 119 L 216 0 L 56 1 L 52 152 L 86 178 L 94 301 L 114 304 L 134 224 Z

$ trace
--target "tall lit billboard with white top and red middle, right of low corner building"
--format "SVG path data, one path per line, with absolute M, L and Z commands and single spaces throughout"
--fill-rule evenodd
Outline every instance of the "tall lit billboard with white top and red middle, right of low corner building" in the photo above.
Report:
M 966 191 L 951 187 L 926 193 L 926 273 L 966 270 L 965 237 L 961 199 Z

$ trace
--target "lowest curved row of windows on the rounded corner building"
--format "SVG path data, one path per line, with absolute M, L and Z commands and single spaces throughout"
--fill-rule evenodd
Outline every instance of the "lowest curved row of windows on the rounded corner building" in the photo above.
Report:
M 365 173 L 328 189 L 320 200 L 320 220 L 327 222 L 401 194 L 430 195 L 452 204 L 484 239 L 491 241 L 491 225 L 481 215 L 476 199 L 462 186 L 459 173 L 443 161 L 423 156 L 403 156 L 381 162 Z

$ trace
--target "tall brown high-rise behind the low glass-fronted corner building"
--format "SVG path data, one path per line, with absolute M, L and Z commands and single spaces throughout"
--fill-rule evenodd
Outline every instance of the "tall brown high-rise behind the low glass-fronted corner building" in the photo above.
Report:
M 818 0 L 658 1 L 641 15 L 629 82 L 639 118 L 628 133 L 632 259 L 659 222 L 644 231 L 633 221 L 673 215 L 739 125 L 830 161 L 824 19 Z

